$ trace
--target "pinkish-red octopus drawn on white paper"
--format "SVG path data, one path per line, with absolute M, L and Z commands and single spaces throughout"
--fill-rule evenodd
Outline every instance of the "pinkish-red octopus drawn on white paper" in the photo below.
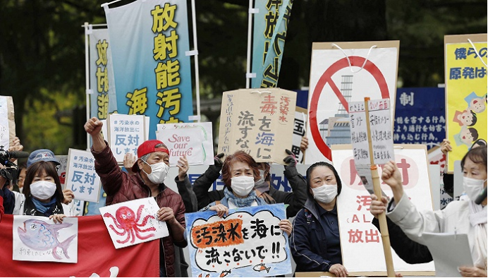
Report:
M 147 229 L 139 229 L 139 227 L 144 227 L 150 218 L 154 219 L 154 216 L 147 215 L 142 220 L 142 223 L 139 224 L 138 222 L 140 219 L 140 214 L 142 214 L 142 208 L 144 208 L 144 205 L 140 205 L 140 207 L 138 208 L 137 218 L 135 217 L 134 211 L 130 210 L 130 207 L 126 207 L 126 206 L 119 207 L 115 212 L 115 217 L 109 212 L 106 212 L 104 214 L 104 217 L 111 217 L 111 219 L 114 219 L 114 224 L 117 226 L 118 229 L 122 230 L 122 231 L 117 231 L 114 225 L 109 225 L 109 227 L 112 230 L 114 230 L 116 234 L 118 234 L 119 236 L 123 236 L 127 234 L 127 238 L 123 241 L 117 240 L 118 243 L 126 243 L 130 240 L 130 238 L 132 238 L 130 243 L 134 243 L 136 236 L 139 239 L 147 239 L 150 238 L 151 236 L 154 236 L 154 234 L 148 234 L 147 236 L 142 236 L 140 234 L 145 231 L 156 231 L 156 228 L 154 228 L 154 226 L 151 226 Z

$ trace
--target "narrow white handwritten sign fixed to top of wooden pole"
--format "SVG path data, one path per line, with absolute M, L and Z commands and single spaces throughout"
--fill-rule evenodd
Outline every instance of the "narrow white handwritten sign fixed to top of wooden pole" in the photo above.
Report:
M 385 164 L 394 159 L 390 99 L 372 99 L 367 104 L 374 164 Z

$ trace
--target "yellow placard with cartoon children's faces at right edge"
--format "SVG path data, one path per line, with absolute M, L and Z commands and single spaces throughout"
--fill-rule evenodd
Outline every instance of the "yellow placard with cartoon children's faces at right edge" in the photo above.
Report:
M 447 171 L 453 173 L 454 161 L 472 146 L 487 145 L 487 34 L 445 36 L 444 43 L 446 127 L 453 147 Z

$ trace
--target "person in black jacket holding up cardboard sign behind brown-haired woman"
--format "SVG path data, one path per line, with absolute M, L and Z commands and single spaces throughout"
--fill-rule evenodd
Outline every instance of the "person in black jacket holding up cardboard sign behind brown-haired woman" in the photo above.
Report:
M 255 183 L 255 189 L 259 191 L 258 195 L 260 195 L 261 198 L 264 198 L 267 203 L 288 204 L 288 207 L 286 207 L 286 217 L 294 217 L 302 208 L 303 204 L 305 204 L 305 200 L 307 200 L 307 181 L 305 181 L 302 175 L 298 174 L 295 156 L 289 151 L 288 154 L 288 157 L 283 159 L 284 162 L 288 163 L 288 165 L 285 166 L 284 174 L 286 179 L 288 179 L 293 192 L 279 191 L 276 190 L 274 186 L 271 186 L 271 174 L 269 173 L 270 167 L 267 163 L 260 163 L 262 179 Z M 214 183 L 216 179 L 219 179 L 223 164 L 221 161 L 222 157 L 224 157 L 223 153 L 216 155 L 216 157 L 214 157 L 214 165 L 210 165 L 207 171 L 193 183 L 193 192 L 198 200 L 198 210 L 209 203 L 224 198 L 223 190 L 209 192 L 212 183 Z

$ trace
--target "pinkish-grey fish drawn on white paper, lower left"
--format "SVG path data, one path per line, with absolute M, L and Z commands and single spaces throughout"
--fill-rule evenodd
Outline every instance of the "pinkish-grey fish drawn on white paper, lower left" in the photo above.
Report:
M 20 241 L 34 250 L 52 250 L 52 255 L 58 260 L 62 258 L 56 253 L 56 250 L 61 248 L 66 258 L 69 259 L 68 247 L 71 241 L 73 241 L 73 238 L 76 237 L 76 234 L 73 234 L 73 236 L 70 236 L 63 242 L 59 242 L 58 236 L 60 229 L 70 226 L 73 226 L 73 224 L 47 224 L 47 222 L 42 220 L 28 219 L 24 221 L 24 229 L 21 226 L 18 227 L 18 236 L 20 237 Z

